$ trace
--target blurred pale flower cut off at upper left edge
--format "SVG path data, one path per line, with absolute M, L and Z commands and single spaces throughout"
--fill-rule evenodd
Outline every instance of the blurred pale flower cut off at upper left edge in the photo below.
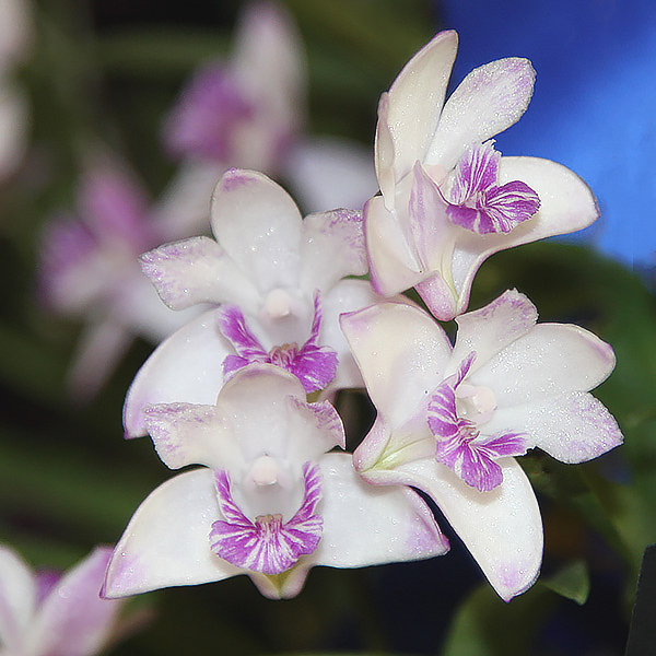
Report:
M 0 0 L 0 178 L 21 163 L 27 142 L 30 110 L 13 72 L 34 37 L 27 0 Z

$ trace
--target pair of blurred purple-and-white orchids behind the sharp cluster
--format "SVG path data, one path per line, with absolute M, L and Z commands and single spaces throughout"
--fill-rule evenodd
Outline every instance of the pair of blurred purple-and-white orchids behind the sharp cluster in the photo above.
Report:
M 0 16 L 4 5 L 8 16 L 17 11 L 16 0 L 2 1 Z M 13 24 L 9 17 L 5 23 L 8 30 Z M 2 36 L 0 30 L 0 65 Z M 229 59 L 194 77 L 165 121 L 164 145 L 180 165 L 156 201 L 118 156 L 94 153 L 79 183 L 75 211 L 52 216 L 44 231 L 42 297 L 50 309 L 84 323 L 68 380 L 77 398 L 97 394 L 136 336 L 157 344 L 199 314 L 162 305 L 137 257 L 207 230 L 212 189 L 230 166 L 289 177 L 306 206 L 317 209 L 361 204 L 376 188 L 364 147 L 362 152 L 352 143 L 301 133 L 305 55 L 283 9 L 247 5 L 235 42 Z

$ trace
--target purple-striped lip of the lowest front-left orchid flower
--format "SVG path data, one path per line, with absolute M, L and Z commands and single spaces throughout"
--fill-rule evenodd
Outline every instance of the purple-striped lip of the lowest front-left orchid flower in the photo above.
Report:
M 233 501 L 227 472 L 216 472 L 216 493 L 225 520 L 212 524 L 212 551 L 238 567 L 265 574 L 280 574 L 301 555 L 312 553 L 323 531 L 321 517 L 314 514 L 321 496 L 321 478 L 318 467 L 309 462 L 303 466 L 303 505 L 286 524 L 282 524 L 282 515 L 259 515 L 253 523 Z

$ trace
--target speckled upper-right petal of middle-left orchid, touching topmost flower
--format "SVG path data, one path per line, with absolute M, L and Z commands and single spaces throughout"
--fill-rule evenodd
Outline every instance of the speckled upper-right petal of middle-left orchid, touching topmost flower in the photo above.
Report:
M 301 284 L 308 294 L 327 292 L 345 276 L 364 276 L 368 265 L 362 214 L 332 210 L 307 216 L 301 258 Z

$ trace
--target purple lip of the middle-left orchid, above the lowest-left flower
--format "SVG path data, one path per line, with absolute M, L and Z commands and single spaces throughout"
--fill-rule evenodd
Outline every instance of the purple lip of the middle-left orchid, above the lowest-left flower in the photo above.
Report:
M 308 340 L 273 347 L 267 351 L 248 328 L 246 318 L 237 305 L 223 305 L 219 313 L 219 328 L 237 351 L 223 361 L 223 374 L 232 376 L 236 371 L 253 362 L 280 366 L 294 374 L 307 394 L 324 389 L 337 373 L 337 353 L 330 347 L 318 345 L 321 329 L 321 298 L 317 291 L 314 297 L 314 320 Z

